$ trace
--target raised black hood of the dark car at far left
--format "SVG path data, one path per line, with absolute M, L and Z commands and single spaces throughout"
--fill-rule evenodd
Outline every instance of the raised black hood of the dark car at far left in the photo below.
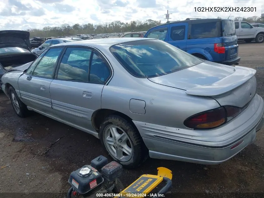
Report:
M 29 32 L 21 30 L 0 31 L 0 48 L 18 47 L 31 51 Z

